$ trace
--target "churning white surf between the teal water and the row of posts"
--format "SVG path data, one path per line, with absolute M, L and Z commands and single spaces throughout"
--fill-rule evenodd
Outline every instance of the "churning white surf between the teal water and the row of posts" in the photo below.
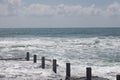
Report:
M 26 52 L 38 55 L 38 58 L 56 58 L 59 63 L 70 62 L 82 69 L 83 66 L 92 66 L 101 76 L 113 78 L 113 73 L 120 65 L 120 38 L 119 37 L 89 37 L 89 38 L 1 38 L 0 58 L 22 57 Z M 99 72 L 101 70 L 106 71 Z M 114 69 L 113 69 L 114 68 Z M 113 71 L 112 71 L 112 70 Z M 75 69 L 76 70 L 76 69 Z M 109 70 L 109 72 L 107 72 Z M 83 74 L 83 73 L 77 73 Z

